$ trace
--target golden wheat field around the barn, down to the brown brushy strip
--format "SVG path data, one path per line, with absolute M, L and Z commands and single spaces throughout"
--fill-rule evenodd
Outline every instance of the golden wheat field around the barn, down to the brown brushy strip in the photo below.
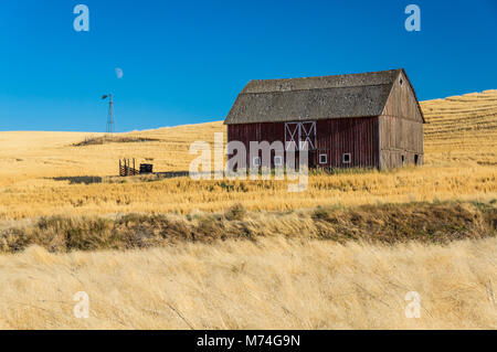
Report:
M 194 140 L 213 141 L 222 122 L 129 132 L 116 138 L 155 139 L 73 147 L 98 136 L 71 132 L 0 132 L 0 220 L 41 215 L 129 212 L 187 214 L 248 210 L 285 211 L 316 205 L 360 205 L 497 198 L 497 90 L 422 103 L 426 115 L 423 168 L 311 175 L 303 193 L 281 181 L 126 179 L 119 158 L 151 162 L 156 171 L 188 171 Z M 138 181 L 138 182 L 136 182 Z M 140 182 L 147 181 L 147 182 Z

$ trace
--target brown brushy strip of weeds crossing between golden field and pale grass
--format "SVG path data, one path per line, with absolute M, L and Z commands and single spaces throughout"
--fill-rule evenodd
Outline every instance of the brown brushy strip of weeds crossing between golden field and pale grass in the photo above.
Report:
M 41 217 L 0 228 L 0 253 L 38 245 L 49 252 L 142 249 L 184 242 L 285 238 L 360 241 L 396 244 L 447 244 L 497 234 L 497 204 L 410 203 L 317 207 L 285 213 L 247 212 L 235 205 L 225 213 L 126 214 L 102 217 Z

